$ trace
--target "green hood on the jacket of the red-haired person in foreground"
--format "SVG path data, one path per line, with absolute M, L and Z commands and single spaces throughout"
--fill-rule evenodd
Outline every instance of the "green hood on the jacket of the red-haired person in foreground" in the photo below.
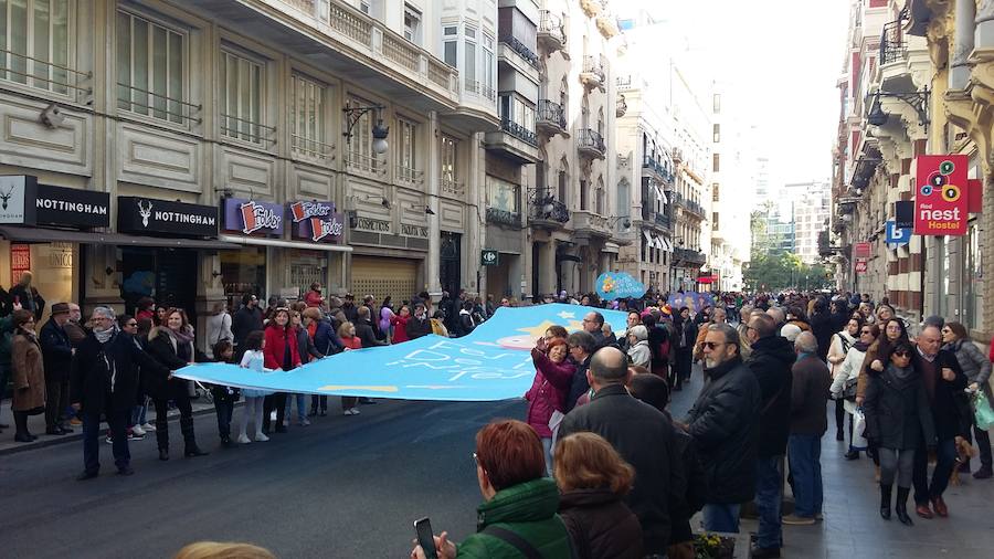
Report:
M 540 477 L 500 489 L 476 509 L 477 531 L 495 523 L 547 520 L 559 510 L 556 482 Z

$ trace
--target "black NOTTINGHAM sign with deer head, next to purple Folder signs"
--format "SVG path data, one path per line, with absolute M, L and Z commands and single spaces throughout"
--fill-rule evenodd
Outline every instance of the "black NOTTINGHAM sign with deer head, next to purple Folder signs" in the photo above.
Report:
M 119 196 L 117 230 L 121 233 L 218 236 L 218 208 L 157 198 Z

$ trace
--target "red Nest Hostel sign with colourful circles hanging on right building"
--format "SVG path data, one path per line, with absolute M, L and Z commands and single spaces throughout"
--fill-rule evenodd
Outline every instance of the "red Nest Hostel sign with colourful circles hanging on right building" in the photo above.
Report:
M 965 235 L 966 156 L 918 156 L 914 160 L 914 234 Z

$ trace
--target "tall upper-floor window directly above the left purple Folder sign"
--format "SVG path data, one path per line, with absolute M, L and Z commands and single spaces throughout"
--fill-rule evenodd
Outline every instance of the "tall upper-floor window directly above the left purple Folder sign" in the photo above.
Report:
M 253 144 L 269 141 L 274 128 L 263 126 L 263 66 L 221 52 L 221 134 Z

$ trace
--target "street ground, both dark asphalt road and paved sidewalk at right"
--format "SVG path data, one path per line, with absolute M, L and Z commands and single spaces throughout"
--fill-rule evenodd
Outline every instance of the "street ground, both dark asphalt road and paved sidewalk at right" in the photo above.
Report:
M 675 416 L 699 389 L 695 372 L 690 389 L 675 394 Z M 480 498 L 474 433 L 504 416 L 524 416 L 524 403 L 381 400 L 359 416 L 319 418 L 268 443 L 221 450 L 207 414 L 197 431 L 210 456 L 160 463 L 149 437 L 131 444 L 137 473 L 121 478 L 105 444 L 103 475 L 85 483 L 73 479 L 78 442 L 6 455 L 0 555 L 165 558 L 187 542 L 220 539 L 253 541 L 281 558 L 406 557 L 422 516 L 456 541 L 473 532 Z M 869 461 L 843 460 L 831 434 L 822 455 L 825 521 L 784 527 L 784 557 L 971 558 L 994 548 L 994 482 L 962 476 L 947 494 L 949 519 L 886 523 Z M 180 447 L 175 439 L 175 456 Z

